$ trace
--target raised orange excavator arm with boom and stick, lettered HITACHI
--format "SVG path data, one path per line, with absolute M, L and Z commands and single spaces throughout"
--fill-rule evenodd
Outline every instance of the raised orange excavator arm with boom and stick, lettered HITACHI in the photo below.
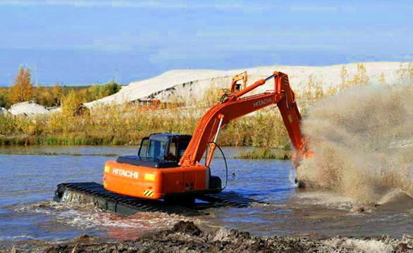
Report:
M 274 80 L 274 90 L 242 97 L 271 79 Z M 277 104 L 278 109 L 281 111 L 281 116 L 295 150 L 295 160 L 299 161 L 302 156 L 309 154 L 300 130 L 301 115 L 295 102 L 294 92 L 292 92 L 288 82 L 288 75 L 274 72 L 268 78 L 258 80 L 253 85 L 244 87 L 244 89 L 239 91 L 234 90 L 234 84 L 231 86 L 231 93 L 224 95 L 221 98 L 221 102 L 212 106 L 199 121 L 192 135 L 192 140 L 180 159 L 181 166 L 197 165 L 208 145 L 210 145 L 211 149 L 209 149 L 209 153 L 206 156 L 205 164 L 209 166 L 216 147 L 215 142 L 219 130 L 230 123 L 230 121 L 263 109 L 271 104 Z M 212 140 L 214 142 L 211 142 Z M 297 161 L 295 161 L 295 165 Z

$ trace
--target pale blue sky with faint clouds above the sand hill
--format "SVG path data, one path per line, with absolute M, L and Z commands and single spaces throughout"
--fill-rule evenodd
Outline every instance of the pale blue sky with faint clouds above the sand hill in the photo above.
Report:
M 412 1 L 1 0 L 0 85 L 122 83 L 176 68 L 410 61 Z

